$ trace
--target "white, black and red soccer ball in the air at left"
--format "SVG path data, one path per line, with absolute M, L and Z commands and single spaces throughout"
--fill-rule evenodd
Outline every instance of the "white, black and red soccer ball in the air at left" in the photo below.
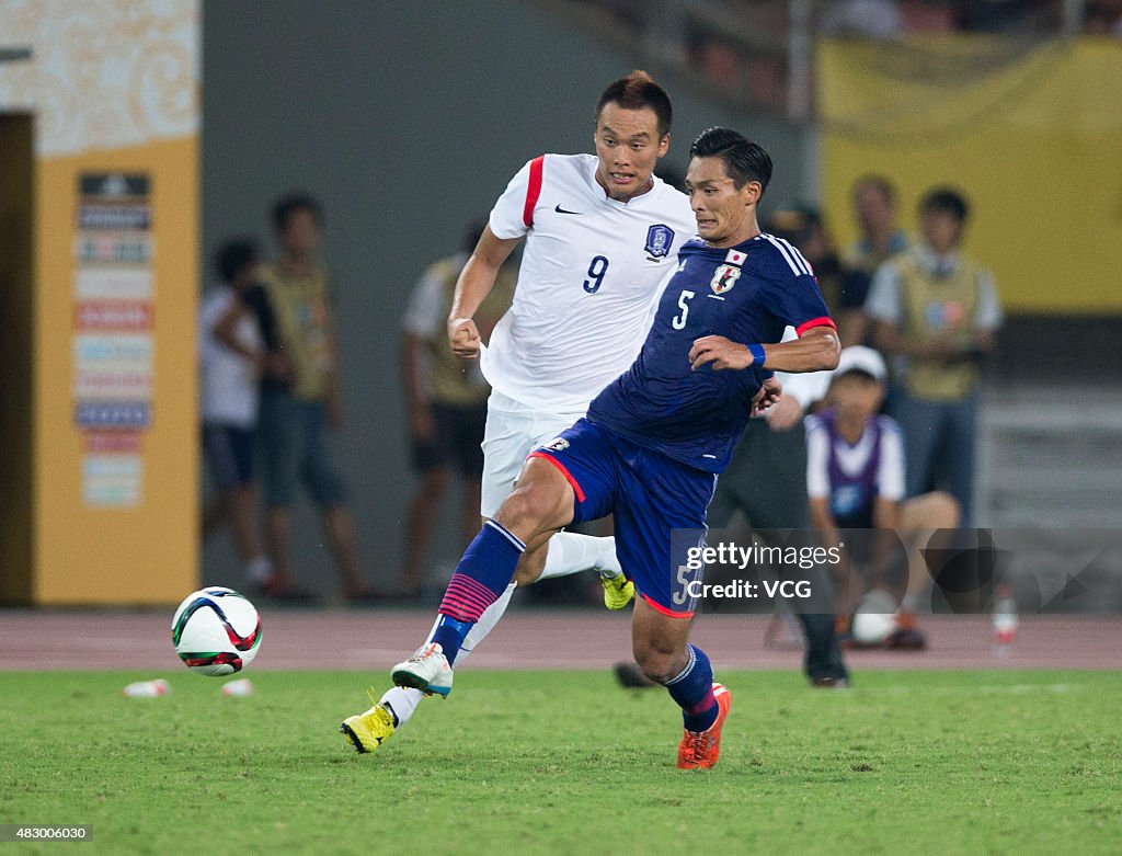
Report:
M 240 672 L 261 643 L 254 605 L 221 586 L 193 591 L 172 619 L 172 643 L 187 669 L 212 676 Z

